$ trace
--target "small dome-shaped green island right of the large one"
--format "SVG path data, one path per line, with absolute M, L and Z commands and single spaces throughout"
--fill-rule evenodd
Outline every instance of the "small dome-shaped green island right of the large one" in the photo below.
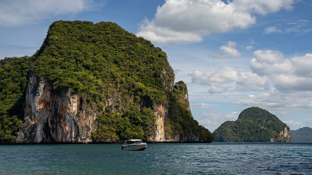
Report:
M 226 121 L 213 135 L 214 142 L 291 142 L 289 127 L 259 107 L 243 110 L 236 121 Z

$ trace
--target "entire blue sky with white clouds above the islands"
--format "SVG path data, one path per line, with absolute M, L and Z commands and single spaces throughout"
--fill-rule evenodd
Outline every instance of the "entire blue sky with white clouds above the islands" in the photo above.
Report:
M 33 55 L 56 20 L 112 21 L 160 47 L 211 132 L 252 106 L 312 127 L 312 0 L 0 0 L 0 59 Z

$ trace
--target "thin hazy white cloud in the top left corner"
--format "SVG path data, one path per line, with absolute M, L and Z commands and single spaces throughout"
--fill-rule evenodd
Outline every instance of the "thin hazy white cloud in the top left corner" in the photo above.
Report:
M 1 0 L 0 26 L 34 23 L 54 16 L 96 9 L 96 0 Z

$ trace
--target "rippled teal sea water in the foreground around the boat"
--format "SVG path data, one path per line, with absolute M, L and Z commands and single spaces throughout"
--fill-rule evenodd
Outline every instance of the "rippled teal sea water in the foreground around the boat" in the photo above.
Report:
M 312 175 L 312 144 L 0 145 L 0 175 Z

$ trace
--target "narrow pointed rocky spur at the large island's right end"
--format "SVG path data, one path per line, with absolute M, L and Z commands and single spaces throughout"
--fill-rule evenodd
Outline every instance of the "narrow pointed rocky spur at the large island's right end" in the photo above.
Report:
M 175 83 L 169 93 L 168 115 L 165 118 L 165 138 L 170 142 L 212 142 L 212 134 L 193 119 L 184 82 Z

